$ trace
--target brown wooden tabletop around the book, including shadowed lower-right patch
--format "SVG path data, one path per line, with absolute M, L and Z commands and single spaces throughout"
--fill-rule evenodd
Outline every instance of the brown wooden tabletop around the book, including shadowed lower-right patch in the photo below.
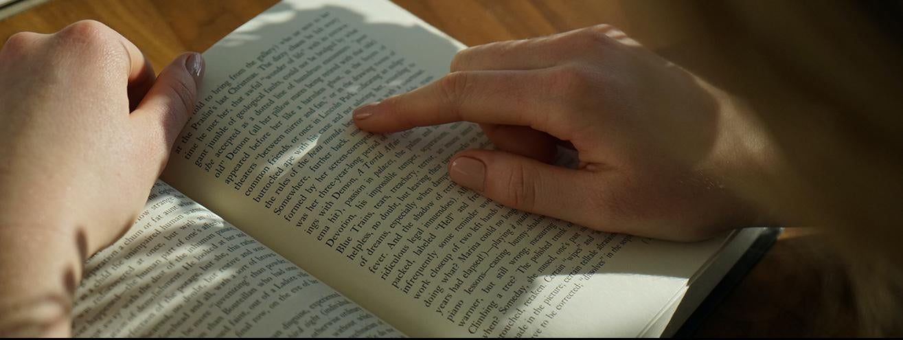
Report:
M 0 42 L 16 32 L 52 33 L 81 19 L 96 19 L 135 42 L 156 70 L 184 51 L 206 50 L 264 11 L 275 0 L 57 0 L 0 21 Z M 467 45 L 614 24 L 650 49 L 691 70 L 699 28 L 669 25 L 687 2 L 647 0 L 396 0 Z M 2 75 L 0 75 L 2 76 Z M 698 331 L 702 336 L 808 335 L 820 307 L 823 267 L 813 255 L 814 237 L 791 230 L 718 307 Z M 835 334 L 836 335 L 836 334 Z

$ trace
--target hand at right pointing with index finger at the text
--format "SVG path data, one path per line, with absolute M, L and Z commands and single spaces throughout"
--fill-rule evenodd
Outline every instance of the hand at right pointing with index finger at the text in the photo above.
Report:
M 763 221 L 727 185 L 767 161 L 749 113 L 610 26 L 472 47 L 451 69 L 358 108 L 355 123 L 479 123 L 498 150 L 453 156 L 453 181 L 600 231 L 694 241 Z M 548 164 L 566 142 L 578 169 Z

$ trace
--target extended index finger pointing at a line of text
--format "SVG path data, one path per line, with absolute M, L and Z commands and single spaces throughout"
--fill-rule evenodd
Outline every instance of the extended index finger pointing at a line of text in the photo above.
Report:
M 555 137 L 571 123 L 562 100 L 550 96 L 549 71 L 452 72 L 422 88 L 368 104 L 354 112 L 358 127 L 376 133 L 455 121 L 533 127 Z M 537 86 L 537 84 L 553 84 Z M 552 88 L 550 88 L 552 87 Z

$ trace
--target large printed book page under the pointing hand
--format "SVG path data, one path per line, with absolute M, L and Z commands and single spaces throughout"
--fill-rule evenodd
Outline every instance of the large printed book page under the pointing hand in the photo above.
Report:
M 204 53 L 164 178 L 414 336 L 639 335 L 724 238 L 607 234 L 452 183 L 469 123 L 376 136 L 361 104 L 448 71 L 461 44 L 388 2 L 287 1 Z

